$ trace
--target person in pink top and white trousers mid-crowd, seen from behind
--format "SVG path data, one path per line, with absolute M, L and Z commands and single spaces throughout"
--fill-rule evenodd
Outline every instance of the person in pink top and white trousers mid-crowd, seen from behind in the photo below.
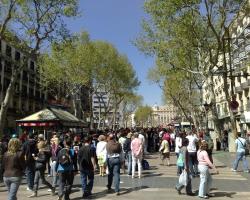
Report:
M 136 164 L 138 166 L 138 177 L 141 178 L 142 170 L 142 157 L 143 157 L 143 143 L 139 138 L 137 132 L 133 135 L 134 139 L 131 141 L 131 152 L 132 152 L 132 178 L 135 178 Z

